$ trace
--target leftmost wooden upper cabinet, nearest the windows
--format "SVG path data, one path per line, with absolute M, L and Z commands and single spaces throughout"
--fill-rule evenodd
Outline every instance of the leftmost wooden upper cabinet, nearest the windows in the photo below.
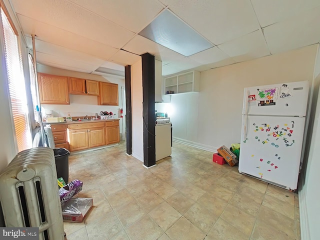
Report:
M 56 76 L 41 72 L 37 76 L 40 103 L 70 104 L 67 76 Z

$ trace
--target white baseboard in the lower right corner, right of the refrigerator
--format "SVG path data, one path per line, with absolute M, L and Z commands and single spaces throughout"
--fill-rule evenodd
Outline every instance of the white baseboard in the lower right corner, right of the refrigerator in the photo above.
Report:
M 303 177 L 300 177 L 300 179 Z M 300 232 L 301 240 L 309 240 L 309 222 L 308 222 L 308 211 L 306 207 L 305 190 L 303 189 L 304 183 L 301 181 L 298 184 L 299 189 L 299 213 L 300 213 Z

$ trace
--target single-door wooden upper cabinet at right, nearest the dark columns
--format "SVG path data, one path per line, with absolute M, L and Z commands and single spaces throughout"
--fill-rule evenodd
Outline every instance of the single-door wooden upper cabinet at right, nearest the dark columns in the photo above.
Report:
M 100 95 L 98 105 L 118 105 L 118 84 L 109 82 L 99 82 Z

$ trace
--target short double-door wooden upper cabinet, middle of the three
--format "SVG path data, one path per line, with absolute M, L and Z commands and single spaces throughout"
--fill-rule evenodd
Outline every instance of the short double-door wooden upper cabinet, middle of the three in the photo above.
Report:
M 79 95 L 99 95 L 99 82 L 77 77 L 69 77 L 69 93 Z

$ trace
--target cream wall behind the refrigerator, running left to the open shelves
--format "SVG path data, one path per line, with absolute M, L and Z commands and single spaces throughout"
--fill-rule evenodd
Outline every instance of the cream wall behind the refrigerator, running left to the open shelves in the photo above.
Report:
M 202 71 L 199 93 L 171 97 L 174 139 L 211 151 L 239 142 L 243 88 L 301 80 L 311 84 L 315 54 L 316 44 Z

